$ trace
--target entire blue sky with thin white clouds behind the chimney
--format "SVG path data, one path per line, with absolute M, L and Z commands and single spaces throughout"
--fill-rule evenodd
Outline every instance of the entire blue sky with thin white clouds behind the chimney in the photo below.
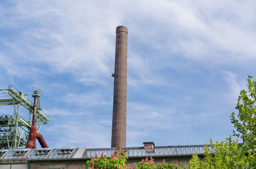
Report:
M 239 91 L 255 76 L 255 8 L 231 0 L 4 1 L 0 87 L 43 90 L 51 122 L 40 133 L 50 147 L 110 147 L 115 29 L 124 25 L 127 146 L 223 140 Z

